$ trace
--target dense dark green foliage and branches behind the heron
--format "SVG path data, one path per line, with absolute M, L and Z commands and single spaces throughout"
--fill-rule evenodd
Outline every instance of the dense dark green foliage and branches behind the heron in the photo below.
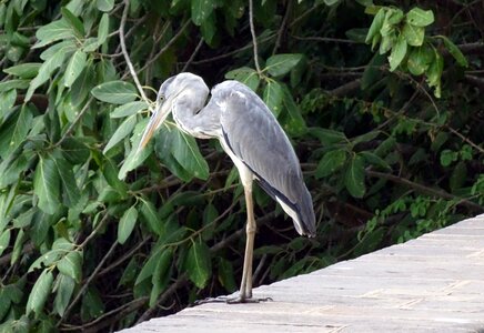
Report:
M 256 62 L 245 1 L 128 2 L 0 1 L 2 332 L 115 330 L 238 289 L 236 170 L 171 122 L 135 154 L 149 104 L 124 56 L 151 99 L 181 71 L 240 80 L 293 139 L 317 236 L 255 189 L 256 285 L 483 212 L 482 1 L 254 0 Z

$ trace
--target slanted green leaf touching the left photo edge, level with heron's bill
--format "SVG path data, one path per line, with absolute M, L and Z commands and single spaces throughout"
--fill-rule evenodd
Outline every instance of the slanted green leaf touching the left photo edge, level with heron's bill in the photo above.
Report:
M 32 127 L 32 113 L 27 104 L 11 114 L 0 127 L 0 158 L 6 159 L 26 141 Z

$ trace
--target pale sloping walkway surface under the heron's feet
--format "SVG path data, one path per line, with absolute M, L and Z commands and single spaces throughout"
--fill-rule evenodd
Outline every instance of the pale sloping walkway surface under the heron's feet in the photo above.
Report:
M 484 215 L 254 295 L 273 302 L 203 304 L 122 332 L 484 333 Z

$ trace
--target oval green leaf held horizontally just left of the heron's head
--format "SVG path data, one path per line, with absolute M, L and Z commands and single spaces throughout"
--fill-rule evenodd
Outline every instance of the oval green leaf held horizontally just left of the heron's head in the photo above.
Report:
M 123 81 L 110 81 L 97 85 L 92 95 L 102 102 L 111 104 L 125 104 L 137 99 L 137 89 L 133 84 Z

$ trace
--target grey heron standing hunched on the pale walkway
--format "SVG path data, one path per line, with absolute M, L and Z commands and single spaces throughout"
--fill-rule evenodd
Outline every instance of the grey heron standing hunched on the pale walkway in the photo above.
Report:
M 276 200 L 292 218 L 301 235 L 315 235 L 311 194 L 291 142 L 265 103 L 246 85 L 224 81 L 209 88 L 202 78 L 180 73 L 169 78 L 158 92 L 155 109 L 143 132 L 139 150 L 172 113 L 180 130 L 200 139 L 219 139 L 235 164 L 244 188 L 246 244 L 239 297 L 229 303 L 258 302 L 252 299 L 252 258 L 255 220 L 252 182 Z

